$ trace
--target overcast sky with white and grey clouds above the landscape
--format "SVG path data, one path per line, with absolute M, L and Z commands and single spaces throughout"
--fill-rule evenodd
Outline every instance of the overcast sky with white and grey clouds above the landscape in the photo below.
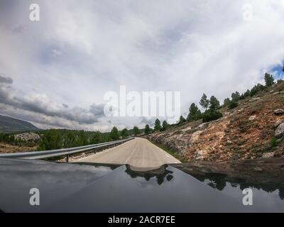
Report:
M 104 116 L 121 85 L 181 92 L 186 114 L 203 92 L 223 100 L 266 71 L 283 77 L 283 24 L 281 0 L 1 0 L 0 114 L 40 128 L 151 123 Z

